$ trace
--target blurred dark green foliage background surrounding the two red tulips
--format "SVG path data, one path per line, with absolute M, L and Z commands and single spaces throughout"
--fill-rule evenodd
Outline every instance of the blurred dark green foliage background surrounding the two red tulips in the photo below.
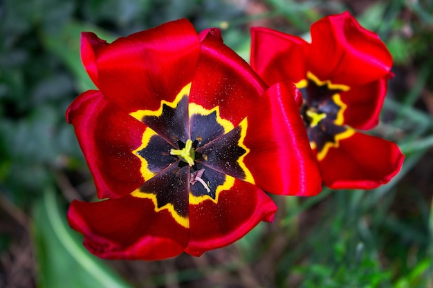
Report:
M 396 77 L 372 133 L 405 165 L 373 191 L 275 197 L 273 224 L 237 243 L 156 261 L 104 261 L 66 224 L 95 189 L 64 113 L 91 88 L 80 32 L 111 41 L 186 17 L 223 28 L 248 60 L 249 28 L 308 35 L 349 10 L 378 32 Z M 433 287 L 433 1 L 3 0 L 0 2 L 0 287 Z

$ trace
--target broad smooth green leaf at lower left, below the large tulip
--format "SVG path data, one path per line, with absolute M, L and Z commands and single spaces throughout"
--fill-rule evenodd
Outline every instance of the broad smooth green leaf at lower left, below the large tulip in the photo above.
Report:
M 59 208 L 53 191 L 47 189 L 33 208 L 38 287 L 131 287 L 84 248 L 80 237 L 66 224 L 66 213 Z

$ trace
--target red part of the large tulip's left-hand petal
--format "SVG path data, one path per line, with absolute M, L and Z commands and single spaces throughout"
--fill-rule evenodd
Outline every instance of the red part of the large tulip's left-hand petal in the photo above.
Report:
M 144 124 L 96 90 L 78 96 L 66 111 L 66 119 L 75 128 L 99 198 L 127 195 L 145 181 L 140 159 L 132 153 L 141 144 Z

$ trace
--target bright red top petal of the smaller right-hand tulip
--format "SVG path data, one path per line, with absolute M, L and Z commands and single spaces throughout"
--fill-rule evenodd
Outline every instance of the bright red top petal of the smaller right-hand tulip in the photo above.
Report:
M 385 77 L 392 57 L 376 33 L 349 12 L 324 17 L 311 26 L 311 73 L 333 84 L 359 86 Z

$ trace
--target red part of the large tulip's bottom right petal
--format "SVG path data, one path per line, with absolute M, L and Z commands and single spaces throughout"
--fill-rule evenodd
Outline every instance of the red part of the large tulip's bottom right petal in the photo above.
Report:
M 257 186 L 234 180 L 231 189 L 219 193 L 218 202 L 190 204 L 190 242 L 185 252 L 203 252 L 242 238 L 260 221 L 273 221 L 275 203 Z

